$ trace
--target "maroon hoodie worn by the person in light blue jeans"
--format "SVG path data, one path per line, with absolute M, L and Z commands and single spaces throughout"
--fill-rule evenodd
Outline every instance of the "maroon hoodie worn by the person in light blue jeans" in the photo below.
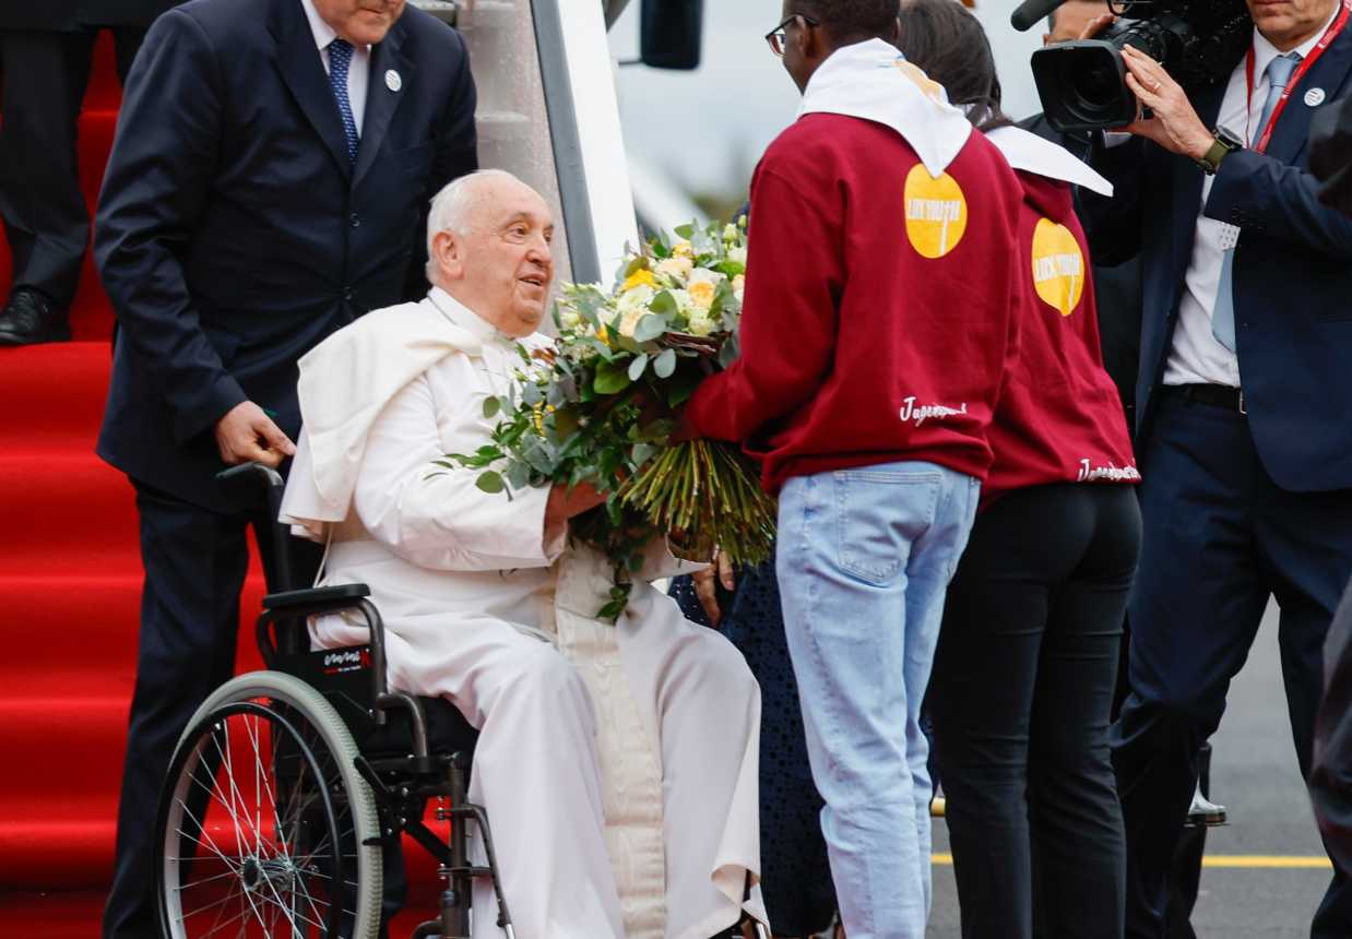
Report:
M 890 127 L 799 118 L 752 180 L 742 355 L 688 427 L 745 442 L 769 492 L 914 459 L 984 477 L 1023 308 L 1022 201 L 982 134 L 934 180 Z

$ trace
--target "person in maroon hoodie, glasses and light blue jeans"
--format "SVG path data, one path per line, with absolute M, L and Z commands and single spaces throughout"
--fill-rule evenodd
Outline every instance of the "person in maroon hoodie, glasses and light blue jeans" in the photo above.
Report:
M 1022 189 L 895 46 L 896 0 L 786 0 L 800 118 L 752 180 L 742 357 L 687 408 L 780 496 L 776 570 L 850 939 L 921 939 L 919 708 L 1017 351 Z

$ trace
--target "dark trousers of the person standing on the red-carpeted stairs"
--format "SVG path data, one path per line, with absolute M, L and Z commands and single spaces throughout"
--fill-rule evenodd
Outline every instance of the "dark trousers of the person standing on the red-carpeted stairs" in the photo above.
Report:
M 124 80 L 146 30 L 118 27 L 112 34 L 118 77 Z M 76 136 L 96 38 L 96 30 L 0 30 L 0 218 L 9 239 L 12 288 L 41 290 L 62 309 L 74 299 L 89 246 Z

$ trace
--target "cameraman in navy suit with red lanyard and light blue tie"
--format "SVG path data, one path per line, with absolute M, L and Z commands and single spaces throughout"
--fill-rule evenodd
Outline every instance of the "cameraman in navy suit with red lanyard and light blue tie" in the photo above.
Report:
M 1352 86 L 1352 28 L 1347 0 L 1247 1 L 1247 55 L 1191 97 L 1125 50 L 1152 116 L 1095 153 L 1117 199 L 1083 199 L 1095 258 L 1142 263 L 1145 530 L 1132 694 L 1113 730 L 1133 939 L 1164 935 L 1198 750 L 1272 594 L 1309 776 L 1321 647 L 1352 574 L 1352 220 L 1320 204 L 1303 146 L 1314 111 Z M 1337 871 L 1311 936 L 1349 935 L 1352 885 Z

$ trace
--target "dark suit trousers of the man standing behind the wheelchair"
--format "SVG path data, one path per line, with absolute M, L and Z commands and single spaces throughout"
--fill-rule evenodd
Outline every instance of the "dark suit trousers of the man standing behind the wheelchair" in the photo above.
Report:
M 146 578 L 116 869 L 103 920 L 108 939 L 160 938 L 155 866 L 162 851 L 154 842 L 160 789 L 188 719 L 234 674 L 250 526 L 265 565 L 272 555 L 272 523 L 262 512 L 222 515 L 134 485 Z M 295 582 L 308 585 L 319 567 L 319 547 L 292 543 Z

